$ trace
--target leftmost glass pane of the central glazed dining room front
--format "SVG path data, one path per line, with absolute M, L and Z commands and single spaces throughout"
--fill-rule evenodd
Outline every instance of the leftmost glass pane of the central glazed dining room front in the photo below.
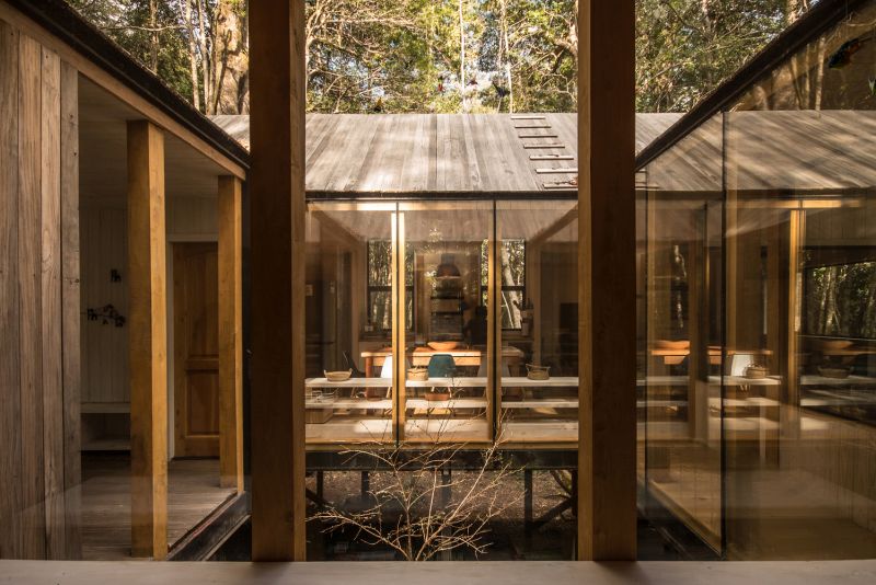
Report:
M 393 314 L 390 209 L 394 206 L 373 207 L 308 205 L 310 445 L 392 440 L 392 368 L 388 363 Z

